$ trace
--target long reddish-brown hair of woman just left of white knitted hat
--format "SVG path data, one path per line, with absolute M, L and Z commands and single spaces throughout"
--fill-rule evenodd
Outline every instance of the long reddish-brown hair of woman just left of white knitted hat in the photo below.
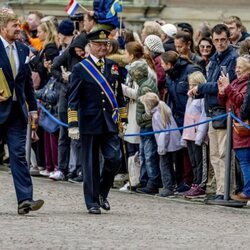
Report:
M 127 43 L 126 50 L 130 55 L 134 56 L 134 61 L 144 58 L 149 67 L 155 71 L 155 64 L 153 59 L 150 57 L 150 55 L 144 53 L 143 46 L 139 42 L 133 41 Z

